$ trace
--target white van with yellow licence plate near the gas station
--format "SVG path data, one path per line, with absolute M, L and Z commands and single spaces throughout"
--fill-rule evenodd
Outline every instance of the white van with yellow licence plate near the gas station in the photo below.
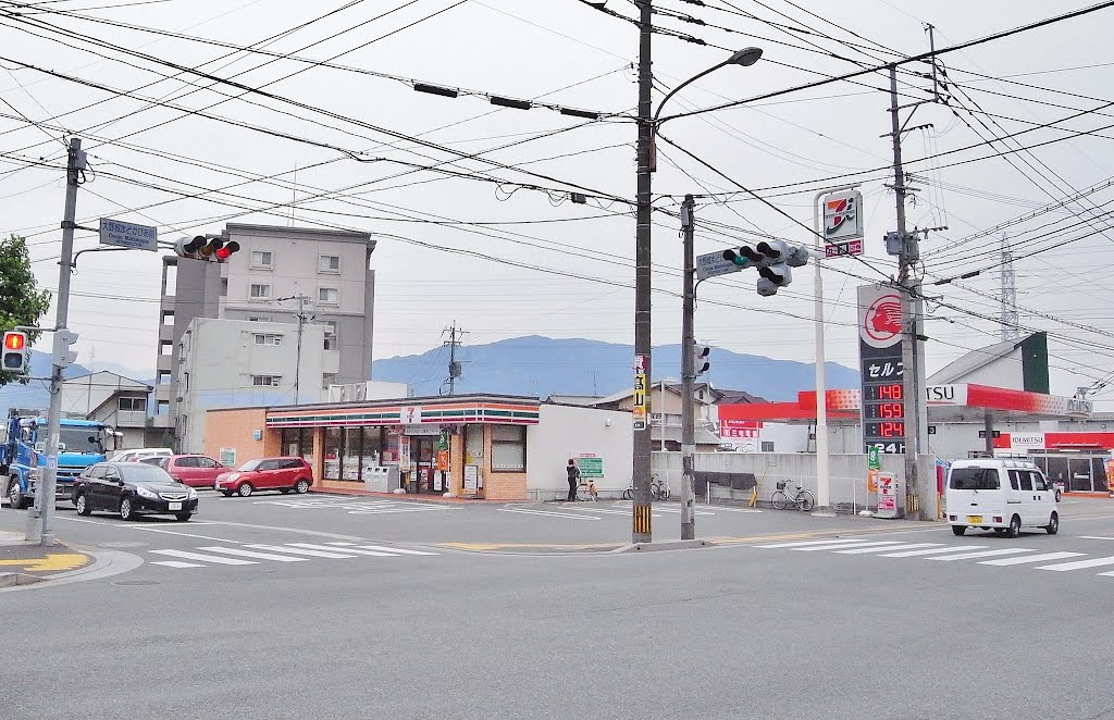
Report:
M 1036 465 L 985 458 L 956 460 L 945 489 L 948 524 L 962 535 L 968 527 L 1017 537 L 1023 527 L 1059 531 L 1056 489 Z

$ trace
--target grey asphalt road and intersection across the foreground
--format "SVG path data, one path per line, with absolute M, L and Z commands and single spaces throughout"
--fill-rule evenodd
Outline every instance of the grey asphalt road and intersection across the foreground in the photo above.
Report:
M 622 504 L 405 505 L 60 512 L 144 564 L 0 592 L 4 717 L 1114 718 L 1106 500 L 1017 539 L 702 506 L 722 544 L 645 553 Z

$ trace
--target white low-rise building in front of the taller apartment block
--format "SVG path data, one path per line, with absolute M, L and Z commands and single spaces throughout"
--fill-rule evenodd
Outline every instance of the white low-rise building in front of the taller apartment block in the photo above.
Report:
M 281 335 L 281 344 L 256 344 L 256 334 Z M 179 450 L 203 451 L 205 411 L 209 408 L 319 401 L 323 343 L 323 327 L 304 324 L 299 362 L 296 324 L 195 318 L 182 338 Z M 256 386 L 255 376 L 277 376 L 278 386 Z

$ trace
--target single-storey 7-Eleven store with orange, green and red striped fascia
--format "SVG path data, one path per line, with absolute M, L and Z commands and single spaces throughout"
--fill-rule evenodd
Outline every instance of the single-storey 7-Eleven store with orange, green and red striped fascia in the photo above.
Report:
M 209 410 L 205 450 L 228 466 L 305 458 L 316 489 L 518 500 L 565 493 L 570 457 L 625 487 L 629 436 L 629 412 L 468 395 Z

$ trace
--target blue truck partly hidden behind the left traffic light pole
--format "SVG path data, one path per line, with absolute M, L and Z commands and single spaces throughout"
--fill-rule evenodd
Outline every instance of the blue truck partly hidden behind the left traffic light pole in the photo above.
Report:
M 70 499 L 74 478 L 90 465 L 102 463 L 115 448 L 117 437 L 113 428 L 96 420 L 60 421 L 56 500 Z M 47 471 L 46 447 L 47 419 L 10 411 L 0 446 L 0 485 L 12 509 L 35 500 L 35 488 Z

